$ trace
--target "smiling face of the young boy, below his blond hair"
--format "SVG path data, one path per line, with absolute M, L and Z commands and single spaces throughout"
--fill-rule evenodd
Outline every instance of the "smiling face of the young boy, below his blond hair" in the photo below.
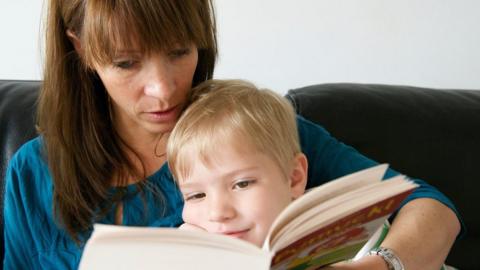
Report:
M 303 194 L 305 179 L 300 183 L 303 187 L 295 187 L 296 180 L 258 151 L 219 149 L 211 164 L 194 162 L 189 178 L 179 179 L 185 199 L 183 219 L 208 232 L 261 246 L 277 215 Z

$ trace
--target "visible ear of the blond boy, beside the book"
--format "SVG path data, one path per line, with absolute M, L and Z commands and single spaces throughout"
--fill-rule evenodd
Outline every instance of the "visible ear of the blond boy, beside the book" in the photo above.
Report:
M 305 193 L 308 176 L 308 161 L 303 153 L 297 154 L 293 159 L 293 168 L 290 173 L 290 189 L 292 199 L 297 199 Z

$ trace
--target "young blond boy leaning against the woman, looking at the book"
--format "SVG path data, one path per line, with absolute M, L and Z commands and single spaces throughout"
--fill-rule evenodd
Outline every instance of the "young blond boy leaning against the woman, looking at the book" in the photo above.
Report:
M 294 110 L 240 80 L 205 82 L 190 102 L 167 146 L 185 226 L 261 246 L 277 215 L 305 191 Z

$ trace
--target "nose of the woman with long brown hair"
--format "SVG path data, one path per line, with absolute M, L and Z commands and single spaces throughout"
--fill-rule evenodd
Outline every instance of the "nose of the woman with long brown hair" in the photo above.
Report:
M 175 91 L 174 74 L 164 59 L 152 59 L 147 67 L 145 95 L 159 99 L 168 99 Z

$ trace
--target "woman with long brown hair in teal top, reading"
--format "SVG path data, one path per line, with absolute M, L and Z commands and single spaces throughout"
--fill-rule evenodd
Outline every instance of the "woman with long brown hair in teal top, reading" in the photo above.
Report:
M 75 269 L 92 224 L 179 226 L 165 143 L 217 53 L 209 0 L 50 0 L 40 137 L 6 176 L 5 269 Z M 298 120 L 309 186 L 375 162 Z M 390 171 L 389 174 L 395 172 Z M 422 186 L 382 244 L 406 269 L 438 269 L 459 230 L 452 203 Z M 368 256 L 341 269 L 387 269 Z

